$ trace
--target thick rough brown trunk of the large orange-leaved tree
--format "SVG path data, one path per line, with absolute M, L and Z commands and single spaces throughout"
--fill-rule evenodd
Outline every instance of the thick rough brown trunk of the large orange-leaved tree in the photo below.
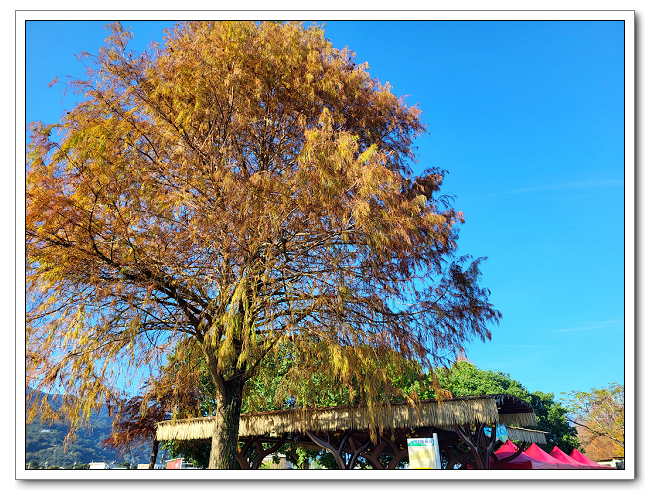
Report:
M 241 379 L 236 378 L 224 382 L 222 391 L 217 389 L 217 415 L 208 469 L 235 468 L 243 388 Z

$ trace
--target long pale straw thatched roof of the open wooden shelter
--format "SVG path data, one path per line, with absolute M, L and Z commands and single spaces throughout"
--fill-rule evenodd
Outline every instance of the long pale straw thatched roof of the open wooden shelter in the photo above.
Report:
M 372 415 L 370 412 L 373 412 Z M 371 418 L 371 417 L 374 417 Z M 156 439 L 205 439 L 212 435 L 214 417 L 167 420 L 156 424 Z M 305 431 L 449 428 L 453 425 L 501 423 L 535 426 L 528 403 L 507 395 L 469 396 L 442 401 L 420 401 L 417 406 L 392 403 L 374 409 L 366 406 L 334 406 L 313 410 L 279 410 L 243 414 L 240 437 Z

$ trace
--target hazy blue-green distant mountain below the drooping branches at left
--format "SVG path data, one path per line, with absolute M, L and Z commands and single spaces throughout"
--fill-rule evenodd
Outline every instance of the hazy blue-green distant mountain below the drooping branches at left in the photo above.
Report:
M 42 398 L 44 393 L 32 391 L 32 395 Z M 53 395 L 48 395 L 48 400 L 53 407 L 58 408 Z M 92 430 L 82 428 L 77 431 L 77 439 L 63 451 L 63 440 L 69 427 L 64 423 L 54 423 L 51 426 L 40 422 L 36 417 L 31 424 L 25 427 L 25 463 L 32 460 L 41 467 L 56 465 L 66 467 L 70 465 L 90 462 L 129 462 L 132 464 L 148 463 L 150 450 L 142 449 L 141 452 L 120 456 L 110 448 L 104 448 L 102 441 L 111 433 L 112 421 L 105 408 L 90 417 Z M 47 464 L 47 465 L 45 465 Z

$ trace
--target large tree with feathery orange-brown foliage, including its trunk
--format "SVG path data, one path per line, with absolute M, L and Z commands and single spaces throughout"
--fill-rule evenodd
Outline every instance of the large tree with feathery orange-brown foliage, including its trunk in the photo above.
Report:
M 27 156 L 27 379 L 80 396 L 73 424 L 183 341 L 228 468 L 243 384 L 281 342 L 295 379 L 354 378 L 370 404 L 387 356 L 426 367 L 490 337 L 443 172 L 408 166 L 420 111 L 353 53 L 299 23 L 182 23 L 141 54 L 111 30 Z

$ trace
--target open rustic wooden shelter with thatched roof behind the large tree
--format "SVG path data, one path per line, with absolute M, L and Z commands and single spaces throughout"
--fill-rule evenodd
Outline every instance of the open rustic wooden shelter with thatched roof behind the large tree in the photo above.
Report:
M 340 469 L 353 469 L 359 459 L 375 469 L 395 469 L 408 458 L 408 438 L 437 433 L 447 469 L 500 468 L 521 451 L 503 460 L 494 455 L 497 424 L 506 426 L 510 439 L 546 443 L 543 432 L 523 428 L 536 425 L 528 403 L 514 396 L 489 395 L 425 400 L 417 405 L 392 403 L 377 408 L 336 406 L 243 414 L 237 460 L 242 469 L 257 469 L 265 457 L 290 442 L 328 450 Z M 156 439 L 208 439 L 213 426 L 213 417 L 166 420 L 156 424 Z M 486 433 L 485 429 L 492 431 Z

